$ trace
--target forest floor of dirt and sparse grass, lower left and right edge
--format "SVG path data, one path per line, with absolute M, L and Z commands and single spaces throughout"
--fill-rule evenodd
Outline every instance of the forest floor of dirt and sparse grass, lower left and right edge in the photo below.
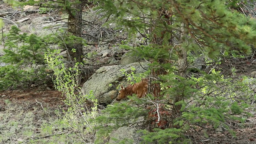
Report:
M 256 64 L 253 60 L 232 60 L 218 68 L 227 76 L 231 76 L 231 68 L 235 68 L 239 78 L 256 71 Z M 0 144 L 79 143 L 70 128 L 61 125 L 62 110 L 66 109 L 62 100 L 64 97 L 57 90 L 32 88 L 0 92 Z M 203 132 L 188 132 L 187 136 L 193 144 L 256 144 L 255 115 L 245 123 L 227 121 L 226 124 L 235 136 L 225 130 L 206 131 L 208 136 L 202 135 Z

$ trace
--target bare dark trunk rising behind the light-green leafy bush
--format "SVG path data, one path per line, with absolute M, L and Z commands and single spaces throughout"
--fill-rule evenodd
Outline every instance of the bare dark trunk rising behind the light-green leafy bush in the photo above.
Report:
M 82 33 L 82 0 L 70 0 L 70 2 L 77 2 L 71 4 L 71 8 L 67 9 L 68 12 L 68 32 L 73 36 L 81 38 Z M 82 39 L 74 39 L 74 42 L 67 45 L 67 60 L 82 62 L 83 58 L 83 45 Z

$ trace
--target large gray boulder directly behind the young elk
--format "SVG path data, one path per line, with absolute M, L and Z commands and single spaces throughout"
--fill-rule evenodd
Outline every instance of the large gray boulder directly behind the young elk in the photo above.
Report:
M 141 65 L 143 68 L 148 68 L 147 62 L 141 62 Z M 103 66 L 96 70 L 89 80 L 84 83 L 82 93 L 86 95 L 92 90 L 99 104 L 110 104 L 118 94 L 118 90 L 116 90 L 118 84 L 116 82 L 120 82 L 125 77 L 121 69 L 128 72 L 131 70 L 131 66 L 136 69 L 134 74 L 146 71 L 138 62 L 128 64 L 127 66 Z

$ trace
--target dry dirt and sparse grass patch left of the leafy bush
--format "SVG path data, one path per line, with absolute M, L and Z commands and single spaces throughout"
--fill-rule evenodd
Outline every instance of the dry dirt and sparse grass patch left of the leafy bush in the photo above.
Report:
M 65 129 L 47 126 L 62 118 L 62 100 L 61 92 L 56 90 L 0 92 L 0 143 L 36 143 L 44 136 L 64 134 Z

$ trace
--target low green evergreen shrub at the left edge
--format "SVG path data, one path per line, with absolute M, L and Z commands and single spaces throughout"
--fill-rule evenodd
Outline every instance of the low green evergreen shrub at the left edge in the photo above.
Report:
M 0 62 L 0 90 L 7 88 L 28 88 L 32 84 L 46 82 L 44 52 L 48 44 L 43 38 L 28 35 L 12 26 L 4 42 L 4 55 Z

